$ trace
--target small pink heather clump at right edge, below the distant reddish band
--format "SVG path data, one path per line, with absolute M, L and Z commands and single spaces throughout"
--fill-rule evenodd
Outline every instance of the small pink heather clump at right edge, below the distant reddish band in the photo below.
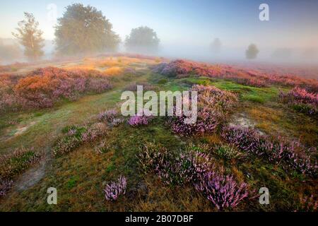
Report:
M 288 93 L 280 93 L 281 102 L 293 106 L 307 114 L 318 113 L 318 94 L 308 93 L 305 89 L 293 88 Z

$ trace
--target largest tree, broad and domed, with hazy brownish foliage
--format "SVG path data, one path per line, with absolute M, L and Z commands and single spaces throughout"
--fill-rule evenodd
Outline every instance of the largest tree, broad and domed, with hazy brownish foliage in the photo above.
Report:
M 55 27 L 55 37 L 57 53 L 66 55 L 114 51 L 120 42 L 102 12 L 83 4 L 66 7 Z

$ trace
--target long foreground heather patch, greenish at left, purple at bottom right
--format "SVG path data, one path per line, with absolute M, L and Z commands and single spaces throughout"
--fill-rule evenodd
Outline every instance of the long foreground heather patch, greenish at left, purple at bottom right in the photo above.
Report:
M 145 172 L 157 174 L 169 186 L 194 186 L 218 210 L 235 208 L 249 196 L 247 184 L 225 175 L 223 169 L 212 164 L 211 157 L 194 151 L 194 145 L 177 154 L 162 145 L 148 143 L 141 149 L 139 161 Z

